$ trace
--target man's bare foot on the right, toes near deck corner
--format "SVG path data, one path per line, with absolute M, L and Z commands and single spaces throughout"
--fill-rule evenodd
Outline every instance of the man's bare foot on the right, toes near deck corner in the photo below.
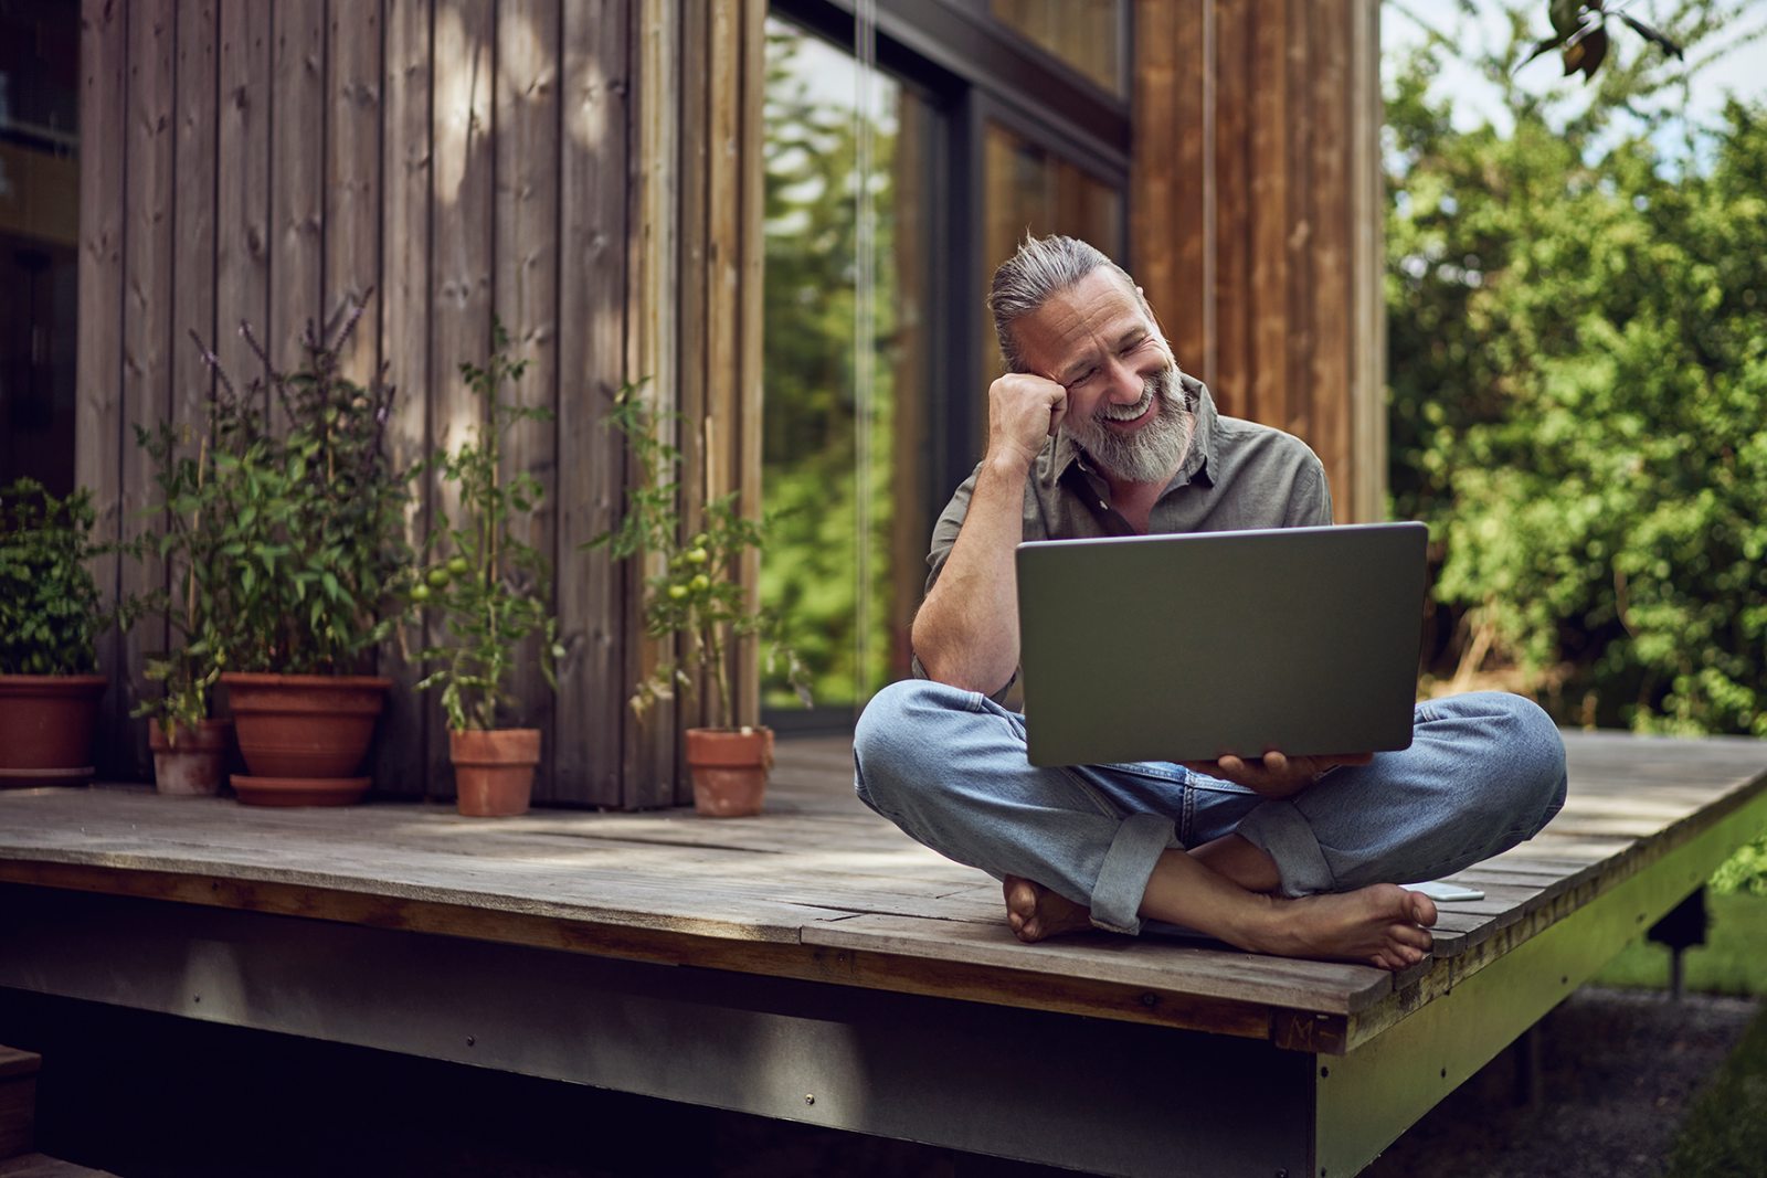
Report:
M 1283 957 L 1355 961 L 1407 970 L 1430 955 L 1437 908 L 1422 892 L 1392 883 L 1270 902 L 1267 920 L 1244 929 L 1244 948 Z M 1240 938 L 1225 938 L 1240 943 Z

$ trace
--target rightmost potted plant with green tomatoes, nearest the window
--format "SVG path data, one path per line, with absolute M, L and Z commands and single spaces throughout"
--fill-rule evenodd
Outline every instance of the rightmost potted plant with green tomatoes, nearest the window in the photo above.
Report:
M 733 724 L 730 669 L 732 639 L 755 634 L 769 641 L 769 669 L 786 664 L 786 678 L 804 706 L 809 691 L 804 666 L 785 645 L 776 616 L 749 609 L 747 592 L 732 576 L 749 549 L 765 551 L 765 532 L 737 510 L 737 493 L 705 503 L 701 528 L 693 535 L 679 510 L 680 450 L 657 436 L 663 422 L 677 413 L 652 413 L 636 385 L 615 394 L 608 426 L 624 434 L 636 461 L 638 482 L 627 491 L 627 512 L 617 530 L 604 532 L 585 547 L 606 546 L 615 560 L 648 553 L 661 572 L 645 579 L 645 632 L 656 639 L 675 638 L 677 659 L 664 661 L 638 685 L 631 706 L 643 717 L 657 699 L 680 691 L 691 696 L 689 668 L 712 682 L 716 719 L 712 728 L 686 733 L 687 768 L 693 774 L 693 805 L 707 818 L 760 814 L 772 770 L 770 728 Z

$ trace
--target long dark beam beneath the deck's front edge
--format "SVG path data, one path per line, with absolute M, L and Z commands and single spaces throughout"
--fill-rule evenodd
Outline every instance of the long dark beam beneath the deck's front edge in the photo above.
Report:
M 28 885 L 0 987 L 1083 1173 L 1308 1167 L 1311 1056 L 1111 1019 Z

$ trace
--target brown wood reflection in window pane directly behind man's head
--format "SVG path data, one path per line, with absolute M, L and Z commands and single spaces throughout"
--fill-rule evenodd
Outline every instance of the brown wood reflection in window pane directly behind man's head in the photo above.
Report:
M 1027 233 L 1078 237 L 1111 258 L 1122 251 L 1122 194 L 997 122 L 988 124 L 986 185 L 981 290 Z M 986 389 L 1005 371 L 986 316 L 977 343 Z

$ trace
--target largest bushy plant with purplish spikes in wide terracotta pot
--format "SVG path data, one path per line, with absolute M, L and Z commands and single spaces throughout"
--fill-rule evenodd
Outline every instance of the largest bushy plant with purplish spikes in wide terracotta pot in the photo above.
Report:
M 277 371 L 240 323 L 263 366 L 244 394 L 196 341 L 216 373 L 214 442 L 207 477 L 180 507 L 214 523 L 201 572 L 217 620 L 207 657 L 224 668 L 251 770 L 233 777 L 240 802 L 346 805 L 371 784 L 357 772 L 392 680 L 360 671 L 398 629 L 406 606 L 392 590 L 412 551 L 410 473 L 385 450 L 394 387 L 385 369 L 368 385 L 339 371 L 364 306 L 336 330 L 309 323 L 293 373 Z

